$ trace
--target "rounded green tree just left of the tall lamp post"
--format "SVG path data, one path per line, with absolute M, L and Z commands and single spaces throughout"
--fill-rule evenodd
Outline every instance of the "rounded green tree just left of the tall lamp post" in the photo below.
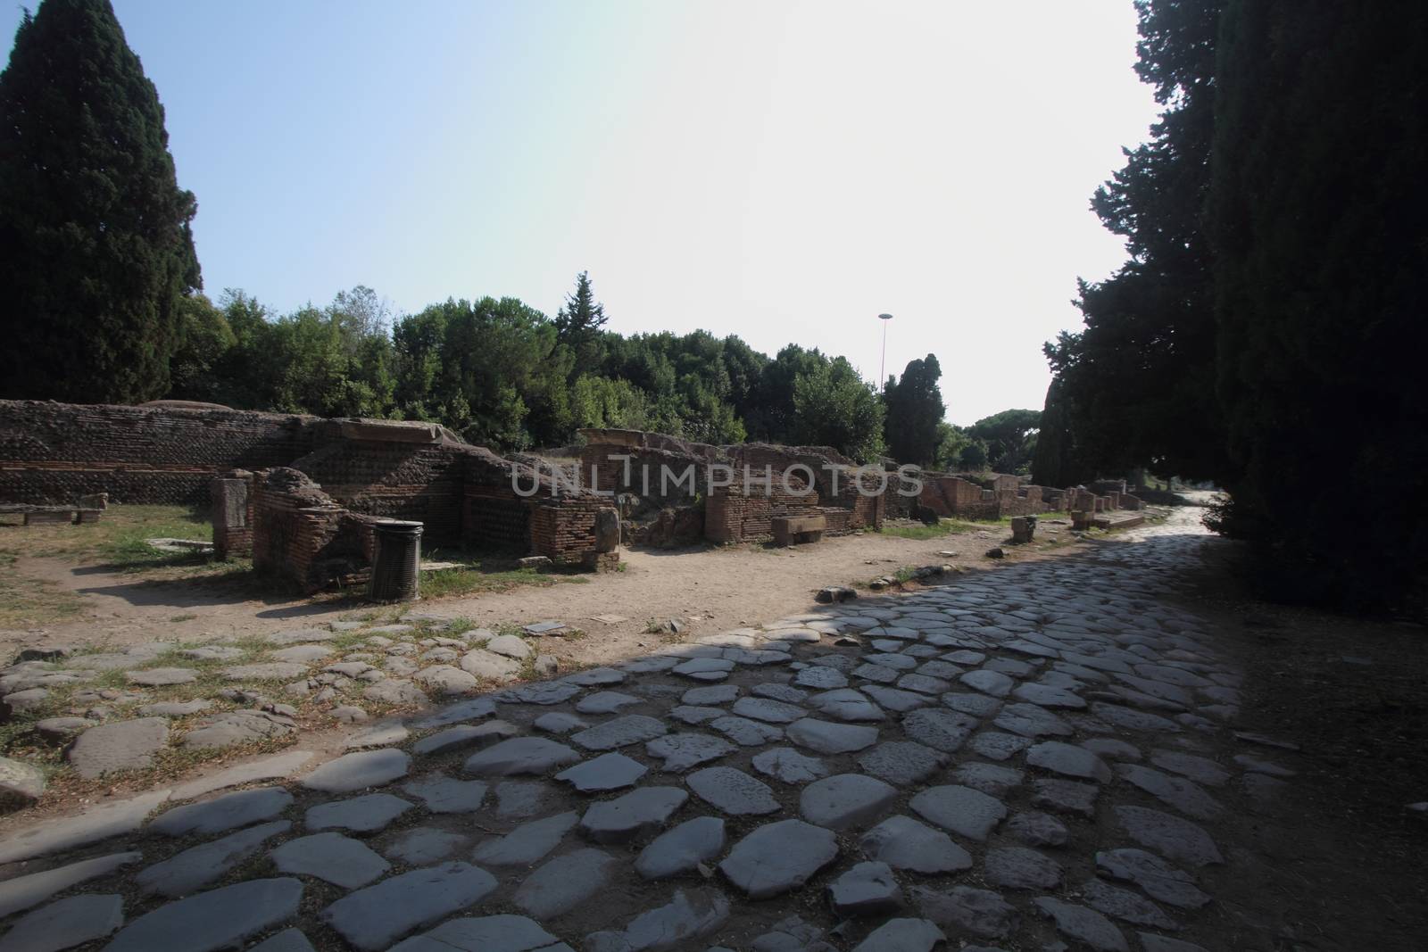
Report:
M 794 378 L 798 442 L 833 447 L 858 462 L 883 455 L 883 401 L 844 357 Z

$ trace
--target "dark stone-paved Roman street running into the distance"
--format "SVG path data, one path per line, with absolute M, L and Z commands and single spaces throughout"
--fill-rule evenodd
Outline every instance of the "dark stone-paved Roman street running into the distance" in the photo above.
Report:
M 1297 755 L 1171 605 L 1200 512 L 17 829 L 0 952 L 1222 948 Z

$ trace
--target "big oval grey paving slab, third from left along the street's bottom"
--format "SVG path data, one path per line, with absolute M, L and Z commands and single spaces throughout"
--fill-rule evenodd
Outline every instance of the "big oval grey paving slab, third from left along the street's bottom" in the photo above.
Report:
M 357 949 L 378 952 L 408 932 L 480 902 L 496 885 L 484 869 L 447 862 L 351 892 L 323 909 L 320 918 Z

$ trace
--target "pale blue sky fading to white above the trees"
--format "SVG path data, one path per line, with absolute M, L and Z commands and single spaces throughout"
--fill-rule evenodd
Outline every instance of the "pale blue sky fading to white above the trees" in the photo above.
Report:
M 204 285 L 400 311 L 588 270 L 621 333 L 935 353 L 948 418 L 1040 408 L 1087 207 L 1145 138 L 1130 0 L 116 0 L 198 196 Z M 13 37 L 20 7 L 4 10 Z

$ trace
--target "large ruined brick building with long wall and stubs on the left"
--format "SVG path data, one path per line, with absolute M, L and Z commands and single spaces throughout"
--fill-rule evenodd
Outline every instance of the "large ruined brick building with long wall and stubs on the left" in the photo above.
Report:
M 527 495 L 516 491 L 518 480 Z M 373 554 L 371 525 L 411 520 L 423 544 L 610 568 L 594 525 L 611 500 L 555 485 L 426 422 L 323 420 L 160 401 L 0 401 L 0 502 L 204 504 L 220 555 L 304 591 Z

